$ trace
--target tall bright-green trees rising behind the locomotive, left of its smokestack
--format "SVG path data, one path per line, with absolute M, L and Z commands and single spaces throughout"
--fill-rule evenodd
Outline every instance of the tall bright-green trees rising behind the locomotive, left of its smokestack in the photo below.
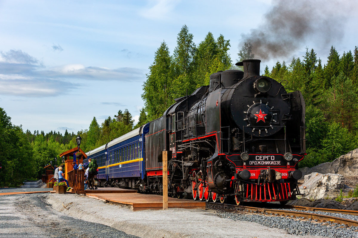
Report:
M 196 47 L 193 35 L 184 25 L 176 43 L 173 56 L 170 56 L 165 42 L 162 42 L 155 52 L 154 62 L 149 67 L 150 72 L 141 95 L 145 105 L 144 114 L 141 113 L 144 118 L 140 120 L 141 123 L 163 116 L 164 111 L 175 102 L 175 98 L 190 94 L 197 87 L 208 85 L 212 73 L 231 67 L 228 54 L 230 42 L 225 40 L 223 35 L 215 39 L 213 34 L 208 32 Z

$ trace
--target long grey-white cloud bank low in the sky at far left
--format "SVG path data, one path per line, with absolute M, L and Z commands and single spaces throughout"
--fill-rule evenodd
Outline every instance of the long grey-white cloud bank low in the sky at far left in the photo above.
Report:
M 21 50 L 0 52 L 0 93 L 27 97 L 56 96 L 81 87 L 74 79 L 97 81 L 143 81 L 145 70 L 122 67 L 86 67 L 68 64 L 46 69 L 39 61 Z

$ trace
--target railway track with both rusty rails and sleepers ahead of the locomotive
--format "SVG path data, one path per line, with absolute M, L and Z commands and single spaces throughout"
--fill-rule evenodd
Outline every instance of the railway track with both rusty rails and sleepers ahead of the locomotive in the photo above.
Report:
M 329 215 L 317 214 L 317 213 L 287 211 L 287 210 L 261 208 L 261 207 L 237 206 L 232 204 L 221 204 L 221 203 L 213 203 L 213 202 L 207 202 L 207 204 L 209 208 L 212 207 L 213 209 L 217 209 L 223 212 L 240 213 L 246 215 L 256 214 L 256 215 L 271 216 L 271 217 L 281 216 L 286 218 L 297 219 L 297 221 L 309 221 L 309 219 L 311 219 L 311 223 L 321 224 L 324 226 L 336 226 L 333 223 L 341 224 L 341 226 L 336 226 L 337 228 L 349 228 L 350 226 L 358 227 L 358 221 L 329 216 Z M 338 209 L 323 209 L 323 208 L 311 208 L 311 207 L 300 207 L 300 206 L 285 206 L 285 208 L 299 209 L 305 211 L 331 212 L 331 213 L 347 212 L 344 214 L 358 215 L 357 211 L 347 211 L 347 210 L 338 210 Z M 349 212 L 353 212 L 355 214 Z

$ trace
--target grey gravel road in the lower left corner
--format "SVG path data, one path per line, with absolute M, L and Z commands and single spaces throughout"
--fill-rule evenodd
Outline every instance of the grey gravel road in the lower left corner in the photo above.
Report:
M 0 236 L 136 238 L 103 224 L 69 217 L 51 208 L 38 194 L 0 197 Z

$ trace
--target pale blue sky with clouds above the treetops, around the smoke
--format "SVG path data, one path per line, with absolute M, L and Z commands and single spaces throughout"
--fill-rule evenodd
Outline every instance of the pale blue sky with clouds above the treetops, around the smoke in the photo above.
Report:
M 15 125 L 32 132 L 64 133 L 67 128 L 76 133 L 87 129 L 93 116 L 102 123 L 125 108 L 137 119 L 145 74 L 163 40 L 173 53 L 184 24 L 197 45 L 209 31 L 216 38 L 222 34 L 230 40 L 235 61 L 243 34 L 267 29 L 262 27 L 265 14 L 280 1 L 0 0 L 0 107 Z M 319 10 L 319 4 L 303 3 L 313 14 Z M 328 20 L 341 20 L 337 36 L 322 39 L 316 33 L 325 32 L 322 21 L 295 43 L 289 56 L 262 61 L 261 69 L 301 57 L 306 46 L 323 62 L 330 45 L 340 54 L 353 50 L 358 19 L 347 9 L 357 10 L 355 2 L 325 12 L 335 12 Z

